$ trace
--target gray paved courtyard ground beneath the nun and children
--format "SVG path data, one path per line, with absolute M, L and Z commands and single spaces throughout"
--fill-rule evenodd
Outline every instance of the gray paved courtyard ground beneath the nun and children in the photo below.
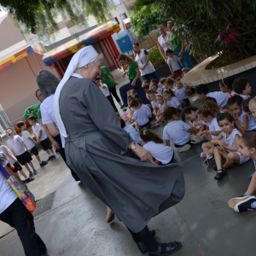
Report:
M 127 79 L 121 78 L 121 72 L 113 73 L 119 84 L 125 84 Z M 195 95 L 190 101 L 200 105 Z M 163 128 L 154 131 L 162 136 Z M 247 177 L 254 171 L 253 161 L 232 166 L 228 175 L 217 182 L 216 172 L 212 166 L 203 165 L 200 154 L 198 144 L 182 154 L 175 150 L 175 162 L 183 164 L 186 195 L 177 206 L 153 218 L 149 229 L 156 230 L 157 241 L 181 241 L 183 247 L 174 254 L 177 256 L 255 255 L 255 212 L 238 214 L 227 204 L 231 197 L 246 191 Z M 47 159 L 44 152 L 40 157 Z M 60 155 L 43 168 L 34 158 L 33 163 L 38 175 L 28 187 L 36 199 L 56 191 L 51 209 L 35 218 L 36 230 L 50 256 L 143 255 L 124 224 L 117 218 L 112 224 L 105 222 L 105 205 L 73 180 Z M 24 256 L 19 237 L 12 230 L 0 222 L 0 255 Z

